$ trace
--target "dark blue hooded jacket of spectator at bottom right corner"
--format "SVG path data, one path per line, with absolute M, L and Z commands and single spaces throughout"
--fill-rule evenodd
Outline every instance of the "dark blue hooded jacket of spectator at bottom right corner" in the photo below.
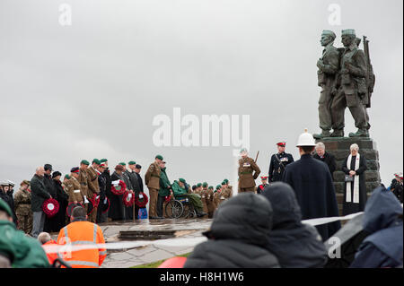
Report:
M 386 188 L 374 189 L 364 208 L 364 231 L 370 235 L 359 247 L 350 267 L 376 268 L 402 266 L 402 207 Z

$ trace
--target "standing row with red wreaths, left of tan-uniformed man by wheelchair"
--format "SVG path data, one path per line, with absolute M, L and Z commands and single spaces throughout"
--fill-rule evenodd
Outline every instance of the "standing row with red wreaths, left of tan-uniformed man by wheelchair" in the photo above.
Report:
M 31 181 L 22 181 L 14 196 L 13 186 L 0 182 L 0 195 L 13 211 L 17 228 L 34 238 L 42 231 L 57 232 L 65 227 L 69 212 L 77 205 L 83 206 L 88 221 L 94 223 L 132 220 L 133 213 L 137 218 L 139 208 L 134 203 L 135 197 L 143 194 L 143 179 L 139 175 L 140 165 L 135 161 L 129 161 L 128 165 L 129 169 L 126 169 L 126 163 L 119 163 L 110 175 L 108 160 L 94 159 L 91 165 L 88 160 L 82 160 L 80 167 L 70 169 L 70 174 L 62 182 L 62 174 L 58 171 L 52 173 L 52 166 L 45 164 L 36 169 Z M 124 191 L 132 198 L 131 206 L 123 204 L 123 195 L 112 193 L 111 182 L 115 179 L 125 182 Z M 55 208 L 52 215 L 44 211 L 44 203 L 49 199 L 53 200 L 51 205 Z

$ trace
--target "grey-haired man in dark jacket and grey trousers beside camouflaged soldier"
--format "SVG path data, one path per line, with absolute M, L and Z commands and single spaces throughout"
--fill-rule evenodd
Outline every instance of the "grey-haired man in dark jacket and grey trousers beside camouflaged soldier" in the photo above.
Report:
M 52 197 L 44 185 L 44 174 L 45 169 L 38 167 L 35 175 L 31 178 L 31 210 L 33 214 L 31 235 L 34 238 L 37 238 L 40 232 L 43 231 L 45 224 L 45 212 L 42 210 L 42 204 Z

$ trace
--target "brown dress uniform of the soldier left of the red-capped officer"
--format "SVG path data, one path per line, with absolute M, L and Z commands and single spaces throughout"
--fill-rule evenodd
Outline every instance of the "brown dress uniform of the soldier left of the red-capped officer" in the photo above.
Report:
M 255 192 L 255 179 L 259 177 L 261 170 L 255 161 L 250 158 L 239 160 L 239 192 Z

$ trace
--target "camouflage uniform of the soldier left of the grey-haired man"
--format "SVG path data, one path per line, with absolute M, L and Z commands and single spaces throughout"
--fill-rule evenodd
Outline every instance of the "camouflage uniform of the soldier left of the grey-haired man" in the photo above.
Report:
M 31 193 L 28 190 L 18 190 L 14 195 L 14 208 L 17 216 L 17 229 L 27 234 L 32 231 Z

